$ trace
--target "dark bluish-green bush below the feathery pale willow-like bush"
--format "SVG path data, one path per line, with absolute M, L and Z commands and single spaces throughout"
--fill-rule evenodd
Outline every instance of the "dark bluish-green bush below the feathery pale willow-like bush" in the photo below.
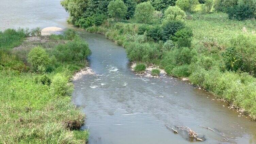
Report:
M 169 40 L 177 31 L 185 28 L 181 21 L 169 21 L 163 25 L 163 40 Z

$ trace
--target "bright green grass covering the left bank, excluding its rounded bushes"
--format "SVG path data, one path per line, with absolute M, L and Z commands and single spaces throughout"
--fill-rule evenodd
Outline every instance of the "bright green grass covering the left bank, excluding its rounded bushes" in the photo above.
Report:
M 25 61 L 30 50 L 41 46 L 53 56 L 51 51 L 63 41 L 25 42 L 20 50 L 13 50 L 26 38 L 15 36 L 19 31 L 14 31 L 0 33 L 0 37 L 16 37 L 5 40 L 8 44 L 1 43 L 0 49 L 0 143 L 87 142 L 89 131 L 80 130 L 85 114 L 71 103 L 73 84 L 69 80 L 75 71 L 86 66 L 86 57 L 79 61 L 51 61 L 51 72 L 36 73 Z

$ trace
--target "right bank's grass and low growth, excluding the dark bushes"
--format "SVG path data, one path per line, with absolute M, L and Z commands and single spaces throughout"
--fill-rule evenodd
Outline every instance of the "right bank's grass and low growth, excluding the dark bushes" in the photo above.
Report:
M 247 40 L 254 38 L 251 31 L 255 29 L 255 21 L 228 20 L 223 13 L 195 13 L 185 23 L 194 34 L 190 47 L 177 48 L 170 41 L 156 42 L 147 30 L 141 33 L 145 24 L 132 19 L 123 22 L 108 19 L 100 26 L 87 28 L 87 31 L 105 34 L 125 47 L 130 61 L 159 65 L 169 75 L 189 77 L 193 84 L 244 110 L 255 119 L 256 78 L 253 73 L 240 69 L 231 71 L 237 66 L 237 60 L 232 57 L 234 52 L 228 49 L 230 46 L 246 48 L 244 45 L 255 48 Z M 154 24 L 149 25 L 149 29 L 150 26 Z M 230 54 L 231 58 L 225 54 Z

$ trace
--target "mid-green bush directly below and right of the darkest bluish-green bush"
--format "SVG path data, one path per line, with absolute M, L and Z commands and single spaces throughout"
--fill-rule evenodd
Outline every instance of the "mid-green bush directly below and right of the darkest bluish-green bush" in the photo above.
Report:
M 171 39 L 178 47 L 191 47 L 193 31 L 190 28 L 183 28 L 177 31 Z

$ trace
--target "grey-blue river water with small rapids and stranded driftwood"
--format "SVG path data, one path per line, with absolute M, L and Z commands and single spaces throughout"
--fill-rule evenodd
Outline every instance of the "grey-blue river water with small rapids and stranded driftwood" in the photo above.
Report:
M 40 26 L 70 28 L 60 0 L 2 0 L 0 29 Z M 87 115 L 89 144 L 187 144 L 186 134 L 165 125 L 188 126 L 206 144 L 256 143 L 256 123 L 236 110 L 174 77 L 135 75 L 125 49 L 105 36 L 77 30 L 89 43 L 95 75 L 75 80 L 73 102 Z M 212 128 L 215 132 L 198 125 Z M 222 134 L 222 136 L 220 135 Z M 224 137 L 230 141 L 224 140 Z

